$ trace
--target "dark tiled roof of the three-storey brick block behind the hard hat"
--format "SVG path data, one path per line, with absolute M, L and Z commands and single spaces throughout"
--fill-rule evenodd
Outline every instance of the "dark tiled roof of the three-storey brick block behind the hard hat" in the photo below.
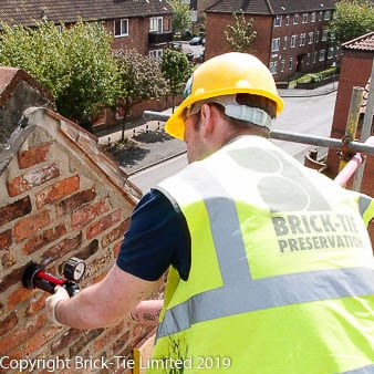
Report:
M 289 14 L 305 11 L 335 9 L 336 0 L 220 0 L 207 12 L 232 13 L 242 10 L 249 14 Z

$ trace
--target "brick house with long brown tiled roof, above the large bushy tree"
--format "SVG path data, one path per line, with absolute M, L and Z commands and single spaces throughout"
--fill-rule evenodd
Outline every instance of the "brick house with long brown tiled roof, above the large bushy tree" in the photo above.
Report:
M 3 0 L 0 22 L 33 25 L 35 20 L 56 24 L 80 18 L 103 22 L 113 35 L 113 49 L 133 48 L 159 56 L 173 40 L 173 9 L 166 0 Z

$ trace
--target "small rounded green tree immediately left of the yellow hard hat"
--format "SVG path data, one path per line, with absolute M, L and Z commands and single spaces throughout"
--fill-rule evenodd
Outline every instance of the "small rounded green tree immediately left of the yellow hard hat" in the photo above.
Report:
M 166 50 L 163 54 L 162 71 L 168 83 L 168 91 L 173 96 L 174 111 L 175 96 L 183 93 L 185 83 L 193 72 L 193 66 L 186 54 Z

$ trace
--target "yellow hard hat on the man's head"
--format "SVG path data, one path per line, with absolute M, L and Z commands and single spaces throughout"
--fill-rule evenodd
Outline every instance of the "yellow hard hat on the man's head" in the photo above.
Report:
M 229 52 L 204 62 L 186 84 L 184 101 L 165 124 L 166 132 L 179 139 L 185 134 L 185 110 L 194 103 L 216 96 L 248 93 L 264 96 L 277 104 L 277 114 L 283 108 L 269 69 L 248 53 Z

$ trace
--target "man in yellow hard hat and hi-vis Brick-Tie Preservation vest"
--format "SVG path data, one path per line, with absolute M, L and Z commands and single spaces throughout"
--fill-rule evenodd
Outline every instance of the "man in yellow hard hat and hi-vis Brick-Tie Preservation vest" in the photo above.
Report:
M 165 366 L 149 372 L 374 372 L 373 199 L 268 139 L 282 101 L 254 56 L 208 60 L 185 97 L 166 131 L 189 166 L 136 207 L 107 277 L 59 290 L 50 313 L 81 329 L 142 316 L 169 268 L 153 356 Z

